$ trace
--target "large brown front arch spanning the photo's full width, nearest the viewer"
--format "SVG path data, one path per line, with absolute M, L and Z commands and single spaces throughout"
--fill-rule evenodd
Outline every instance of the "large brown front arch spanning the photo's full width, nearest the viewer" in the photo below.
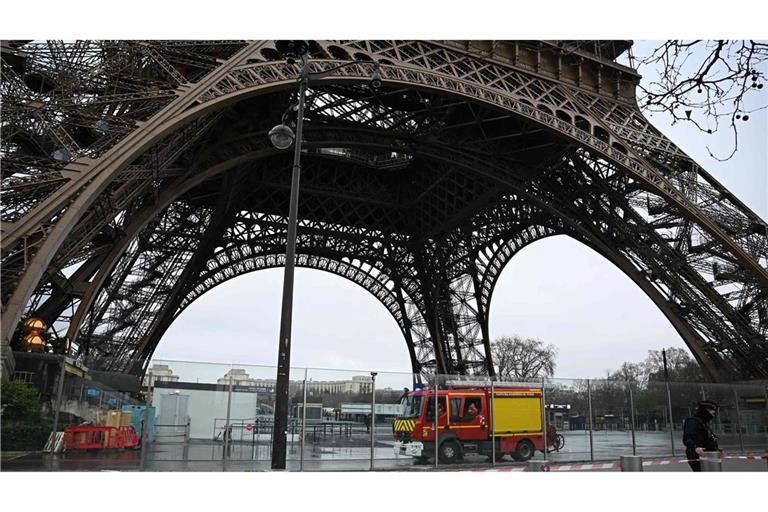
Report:
M 92 204 L 96 196 L 104 190 L 117 172 L 125 168 L 130 161 L 135 159 L 154 142 L 205 112 L 221 108 L 226 104 L 239 101 L 249 95 L 263 94 L 267 91 L 281 90 L 292 86 L 296 75 L 294 68 L 282 63 L 253 62 L 252 55 L 263 46 L 264 42 L 251 43 L 212 72 L 210 76 L 206 76 L 197 84 L 181 92 L 178 101 L 174 101 L 164 108 L 158 115 L 145 123 L 144 126 L 133 132 L 128 137 L 130 140 L 126 140 L 118 145 L 117 148 L 110 150 L 97 163 L 88 161 L 77 162 L 78 165 L 85 163 L 91 167 L 90 172 L 84 171 L 82 173 L 84 177 L 87 175 L 91 181 L 56 223 L 40 250 L 35 254 L 32 263 L 23 273 L 7 304 L 7 314 L 11 317 L 11 321 L 6 321 L 7 327 L 4 328 L 4 331 L 6 331 L 4 332 L 4 338 L 9 338 L 10 332 L 12 332 L 18 322 L 23 305 L 31 296 L 34 287 L 42 277 L 55 251 L 63 243 L 64 238 L 74 227 L 75 222 L 80 218 L 78 212 L 85 210 Z M 312 62 L 313 67 L 317 70 L 329 69 L 337 64 L 339 64 L 339 61 L 334 60 Z M 368 79 L 370 74 L 369 68 L 369 64 L 348 66 L 344 68 L 342 75 L 323 79 L 322 82 L 360 83 Z M 600 137 L 583 132 L 575 125 L 542 112 L 540 109 L 531 108 L 522 102 L 521 98 L 516 97 L 515 91 L 501 91 L 487 84 L 469 84 L 466 79 L 461 80 L 441 71 L 418 69 L 401 63 L 382 65 L 381 71 L 386 82 L 412 88 L 431 89 L 439 94 L 457 95 L 471 101 L 482 102 L 545 126 L 548 129 L 554 130 L 560 136 L 588 148 L 615 165 L 622 172 L 645 184 L 650 190 L 658 193 L 671 204 L 674 204 L 686 217 L 702 226 L 727 251 L 731 252 L 742 265 L 752 272 L 752 275 L 758 281 L 768 285 L 768 271 L 761 267 L 720 226 L 700 211 L 691 200 L 677 190 L 667 178 L 647 164 L 634 150 L 629 150 L 627 154 L 624 154 L 622 151 L 612 147 L 609 141 L 612 139 L 620 140 L 620 137 L 612 134 L 610 130 L 601 128 L 609 134 L 609 141 L 600 140 Z M 248 85 L 249 82 L 250 85 Z M 565 96 L 566 98 L 570 97 L 568 93 Z M 571 103 L 574 115 L 579 114 L 586 118 L 594 117 L 587 110 L 579 108 L 575 101 L 569 99 L 569 102 Z M 595 128 L 601 124 L 595 118 Z M 75 164 L 72 165 L 77 167 Z M 95 176 L 93 176 L 94 174 Z M 76 187 L 78 183 L 83 182 L 76 179 L 72 180 L 68 187 L 69 190 L 74 193 L 75 188 L 73 187 Z M 46 204 L 46 208 L 42 210 L 47 209 L 46 211 L 50 211 L 52 215 L 54 212 L 49 206 Z M 15 242 L 24 233 L 25 226 L 29 226 L 30 222 L 39 224 L 42 218 L 47 218 L 48 216 L 39 208 L 24 216 L 20 222 L 15 223 L 11 227 L 7 235 L 8 240 L 10 240 L 8 245 L 15 245 Z

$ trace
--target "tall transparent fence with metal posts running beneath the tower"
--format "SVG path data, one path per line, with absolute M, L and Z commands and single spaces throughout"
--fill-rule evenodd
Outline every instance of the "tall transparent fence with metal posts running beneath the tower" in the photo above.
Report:
M 98 423 L 110 409 L 140 403 L 149 406 L 144 410 L 154 420 L 146 418 L 155 425 L 154 438 L 131 455 L 103 450 L 98 456 L 89 454 L 89 460 L 98 459 L 106 468 L 135 466 L 147 471 L 269 470 L 275 375 L 270 366 L 153 361 L 141 403 L 68 376 L 60 401 L 60 412 L 68 414 L 61 415 L 59 430 L 75 419 Z M 415 386 L 444 389 L 460 377 L 314 368 L 293 368 L 290 375 L 289 471 L 440 467 L 439 457 L 417 459 L 396 452 L 393 422 L 402 412 L 405 392 Z M 503 384 L 485 377 L 469 379 L 473 380 L 467 385 L 487 389 Z M 683 420 L 705 398 L 720 405 L 712 428 L 721 448 L 733 454 L 768 449 L 768 400 L 762 385 L 555 378 L 520 384 L 541 390 L 544 428 L 553 427 L 559 436 L 558 442 L 537 449 L 534 461 L 562 465 L 618 461 L 632 455 L 680 457 Z M 491 418 L 493 411 L 482 414 Z M 462 453 L 455 464 L 520 466 L 515 454 L 504 453 L 490 431 L 489 450 Z M 440 423 L 435 446 L 442 446 L 446 432 Z M 76 461 L 79 455 L 53 457 Z M 83 466 L 51 464 L 51 469 Z

